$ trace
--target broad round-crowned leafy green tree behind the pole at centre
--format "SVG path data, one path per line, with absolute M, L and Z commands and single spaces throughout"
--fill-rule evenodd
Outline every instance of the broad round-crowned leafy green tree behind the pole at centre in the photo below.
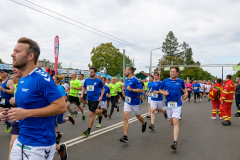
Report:
M 118 74 L 123 76 L 123 54 L 112 43 L 102 43 L 98 47 L 93 47 L 90 55 L 92 65 L 88 64 L 89 68 L 107 69 L 110 76 Z M 128 56 L 125 56 L 125 65 L 125 67 L 132 66 L 132 60 Z

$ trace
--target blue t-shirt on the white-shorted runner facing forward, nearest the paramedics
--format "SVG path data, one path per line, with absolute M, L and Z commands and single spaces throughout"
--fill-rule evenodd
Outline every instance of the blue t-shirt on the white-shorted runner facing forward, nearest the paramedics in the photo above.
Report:
M 163 80 L 162 85 L 160 86 L 161 90 L 169 92 L 169 95 L 166 96 L 167 101 L 180 101 L 181 102 L 181 89 L 185 89 L 185 84 L 183 80 L 176 79 L 171 80 L 170 78 Z

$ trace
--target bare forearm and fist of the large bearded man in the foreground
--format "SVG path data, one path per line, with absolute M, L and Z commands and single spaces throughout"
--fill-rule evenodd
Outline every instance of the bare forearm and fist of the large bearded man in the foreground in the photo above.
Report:
M 50 105 L 38 109 L 11 108 L 8 111 L 8 117 L 12 121 L 22 120 L 28 117 L 50 117 L 66 112 L 67 105 L 64 98 L 61 97 Z

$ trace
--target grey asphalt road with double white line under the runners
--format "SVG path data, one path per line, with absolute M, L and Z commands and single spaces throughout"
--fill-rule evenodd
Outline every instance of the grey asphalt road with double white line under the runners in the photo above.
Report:
M 72 105 L 74 108 L 74 105 Z M 76 124 L 70 122 L 59 125 L 64 136 L 61 143 L 68 146 L 70 160 L 239 160 L 240 119 L 232 117 L 232 126 L 222 126 L 222 120 L 211 120 L 211 102 L 204 99 L 197 103 L 185 102 L 182 107 L 183 119 L 180 121 L 178 150 L 172 151 L 173 127 L 164 119 L 163 114 L 157 114 L 155 130 L 147 128 L 141 132 L 141 123 L 131 113 L 128 140 L 121 143 L 123 136 L 123 103 L 120 112 L 113 113 L 111 119 L 103 118 L 102 127 L 96 128 L 94 122 L 91 135 L 85 138 L 81 135 L 88 127 L 88 108 L 85 107 L 87 119 L 82 121 L 81 114 L 75 117 Z M 235 103 L 232 115 L 236 113 Z M 142 114 L 147 113 L 147 101 L 141 107 Z M 65 114 L 67 116 L 68 113 Z M 145 117 L 145 116 L 144 116 Z M 150 124 L 150 119 L 145 118 Z M 0 159 L 7 159 L 10 135 L 4 133 L 5 125 L 0 124 Z M 56 153 L 54 160 L 60 159 Z

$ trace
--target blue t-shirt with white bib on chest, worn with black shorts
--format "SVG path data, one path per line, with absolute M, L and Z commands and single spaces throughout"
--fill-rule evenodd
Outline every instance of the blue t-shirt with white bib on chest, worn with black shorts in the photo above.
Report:
M 83 87 L 87 90 L 89 101 L 98 101 L 101 96 L 101 88 L 103 88 L 103 83 L 100 79 L 87 78 L 85 79 Z

